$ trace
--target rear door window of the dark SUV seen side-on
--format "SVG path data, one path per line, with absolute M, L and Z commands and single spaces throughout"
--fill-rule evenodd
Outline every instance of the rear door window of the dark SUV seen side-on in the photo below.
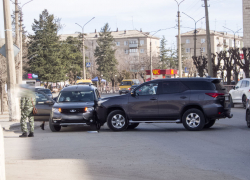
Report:
M 173 94 L 173 93 L 181 93 L 186 91 L 187 88 L 178 81 L 168 81 L 162 83 L 162 94 Z

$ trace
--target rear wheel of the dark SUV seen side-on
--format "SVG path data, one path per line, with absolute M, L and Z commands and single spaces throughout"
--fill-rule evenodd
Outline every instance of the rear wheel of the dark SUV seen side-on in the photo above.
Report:
M 183 114 L 182 123 L 189 131 L 200 131 L 205 126 L 204 114 L 199 109 L 189 109 Z

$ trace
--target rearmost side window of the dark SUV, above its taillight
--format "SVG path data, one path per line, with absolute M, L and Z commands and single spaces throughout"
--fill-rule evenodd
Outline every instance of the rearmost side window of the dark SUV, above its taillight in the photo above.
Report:
M 183 81 L 189 89 L 191 90 L 215 90 L 216 87 L 213 83 L 207 81 Z

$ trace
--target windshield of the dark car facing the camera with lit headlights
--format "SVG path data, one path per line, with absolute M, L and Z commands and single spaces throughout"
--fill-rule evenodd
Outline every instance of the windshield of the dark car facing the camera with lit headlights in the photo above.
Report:
M 58 102 L 90 102 L 94 101 L 93 91 L 62 91 Z

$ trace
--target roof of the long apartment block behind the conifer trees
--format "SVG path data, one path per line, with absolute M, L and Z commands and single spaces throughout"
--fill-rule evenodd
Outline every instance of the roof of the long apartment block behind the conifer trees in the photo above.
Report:
M 78 33 L 75 34 L 61 34 L 60 39 L 66 40 L 67 37 L 78 37 Z M 151 37 L 152 39 L 160 39 L 156 36 L 150 36 L 149 32 L 142 32 L 138 30 L 124 30 L 124 31 L 112 31 L 111 35 L 114 39 L 124 39 L 124 38 L 143 38 L 143 37 Z M 85 35 L 86 39 L 97 39 L 99 37 L 99 32 L 87 33 Z

